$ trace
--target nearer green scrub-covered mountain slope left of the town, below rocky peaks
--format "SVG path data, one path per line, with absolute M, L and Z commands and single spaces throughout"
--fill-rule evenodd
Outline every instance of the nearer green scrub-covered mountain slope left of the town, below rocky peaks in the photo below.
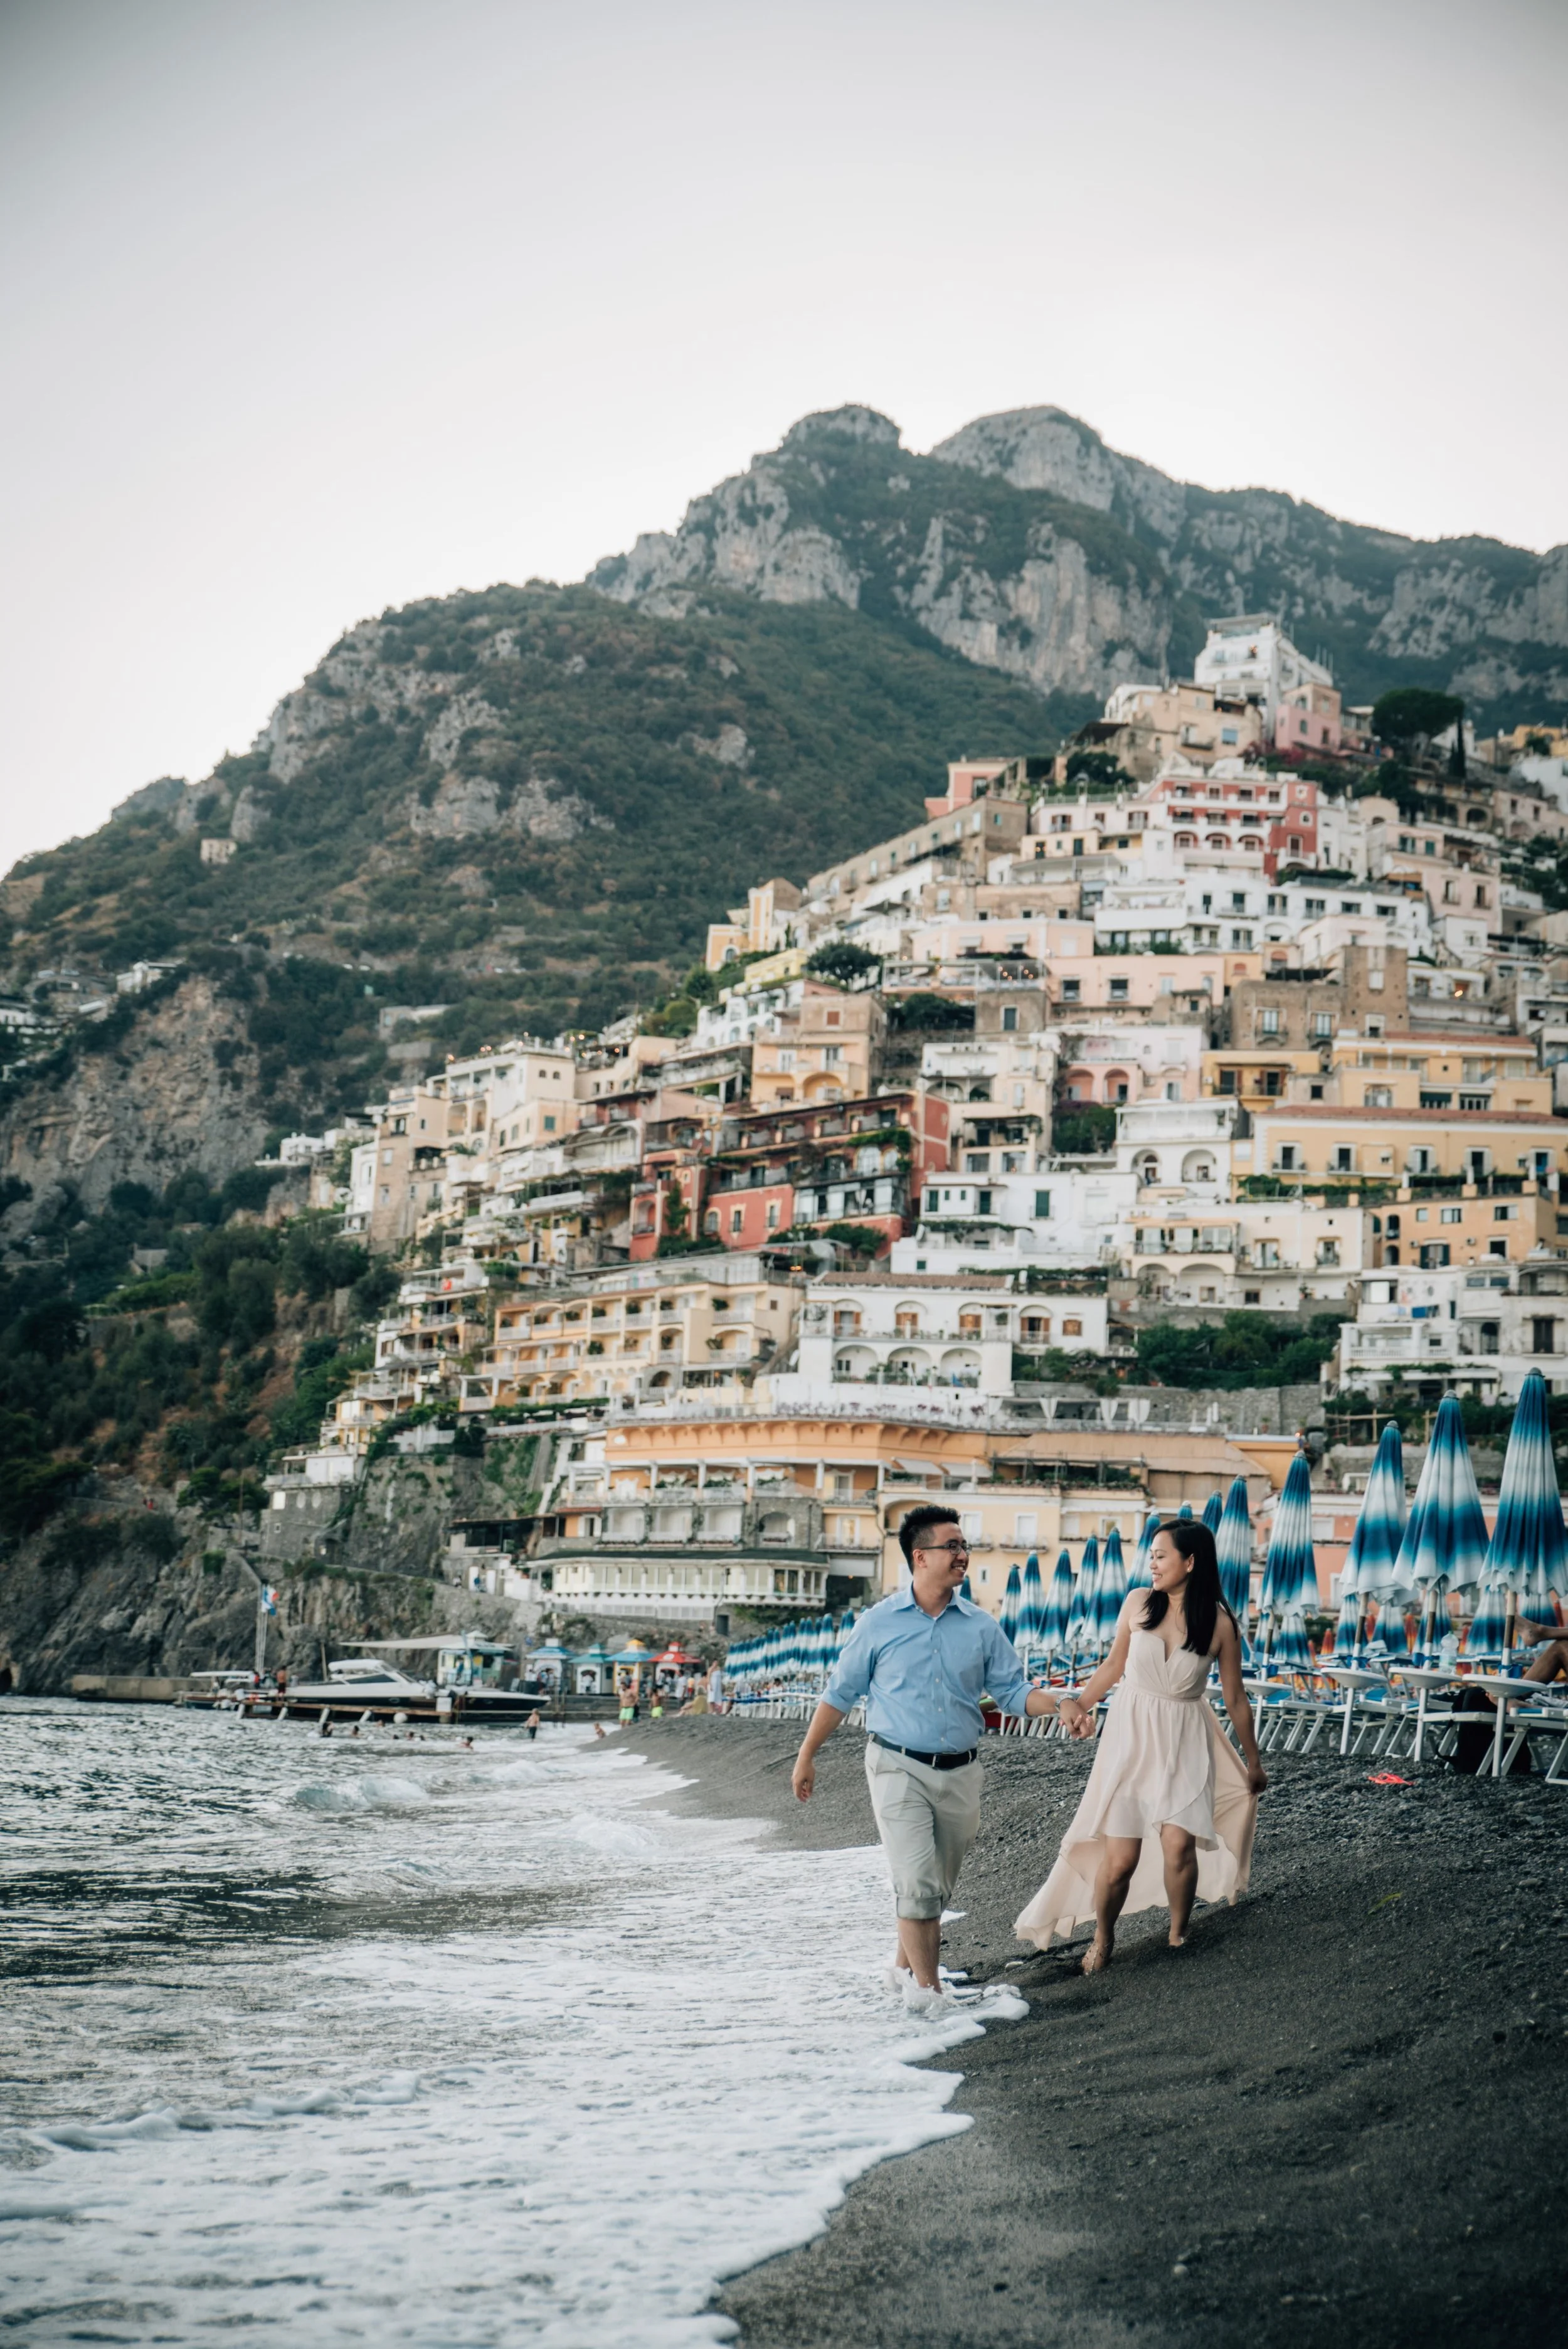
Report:
M 671 618 L 530 585 L 387 611 L 251 752 L 0 883 L 7 984 L 45 1008 L 75 1001 L 59 972 L 185 965 L 0 1085 L 0 1177 L 92 1210 L 223 1182 L 385 1083 L 399 1003 L 446 1005 L 434 1059 L 599 1027 L 758 876 L 908 822 L 944 759 L 1054 740 L 1021 684 L 836 604 L 714 590 Z

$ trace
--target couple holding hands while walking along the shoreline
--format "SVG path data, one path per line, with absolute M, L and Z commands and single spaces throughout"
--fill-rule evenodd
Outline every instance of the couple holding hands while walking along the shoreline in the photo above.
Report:
M 866 1778 L 892 1870 L 906 2004 L 930 2008 L 946 1997 L 941 1912 L 979 1832 L 981 1696 L 1002 1712 L 1059 1712 L 1070 1736 L 1091 1738 L 1099 1698 L 1122 1682 L 1077 1816 L 1016 1921 L 1019 1938 L 1047 1950 L 1054 1933 L 1094 1919 L 1084 1973 L 1099 1973 L 1122 1910 L 1164 1900 L 1181 1950 L 1195 1898 L 1235 1900 L 1246 1889 L 1268 1785 L 1209 1527 L 1178 1517 L 1155 1534 L 1153 1590 L 1127 1595 L 1110 1654 L 1070 1694 L 1033 1689 L 993 1616 L 960 1597 L 969 1550 L 955 1510 L 913 1508 L 899 1546 L 908 1588 L 854 1626 L 805 1731 L 793 1788 L 810 1799 L 817 1752 L 864 1696 Z M 1204 1703 L 1211 1663 L 1242 1755 Z

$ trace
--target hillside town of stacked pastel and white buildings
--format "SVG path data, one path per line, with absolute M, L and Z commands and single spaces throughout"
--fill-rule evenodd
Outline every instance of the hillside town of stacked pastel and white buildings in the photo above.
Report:
M 1235 1475 L 1265 1517 L 1329 1421 L 1561 1391 L 1568 738 L 1397 719 L 1228 618 L 1056 756 L 758 879 L 653 1010 L 441 1073 L 439 1005 L 383 1015 L 408 1081 L 282 1160 L 401 1290 L 270 1555 L 390 1447 L 535 1428 L 528 1508 L 453 1536 L 474 1588 L 723 1630 L 876 1595 L 941 1492 L 1000 1609 Z M 1235 1313 L 1279 1384 L 1148 1374 Z

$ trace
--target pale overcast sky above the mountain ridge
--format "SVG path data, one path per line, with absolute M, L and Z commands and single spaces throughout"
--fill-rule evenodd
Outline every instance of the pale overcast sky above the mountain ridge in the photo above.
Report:
M 0 869 L 864 399 L 1568 540 L 1561 0 L 0 0 Z

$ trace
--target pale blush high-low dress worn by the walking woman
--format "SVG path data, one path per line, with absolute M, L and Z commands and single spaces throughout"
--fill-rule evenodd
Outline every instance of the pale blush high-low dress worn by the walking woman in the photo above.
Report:
M 1157 1630 L 1134 1630 L 1127 1670 L 1110 1698 L 1094 1750 L 1089 1785 L 1049 1877 L 1019 1917 L 1019 1940 L 1040 1950 L 1056 1933 L 1094 1917 L 1094 1877 L 1106 1837 L 1138 1839 L 1143 1851 L 1127 1910 L 1164 1907 L 1160 1828 L 1197 1839 L 1197 1898 L 1235 1900 L 1246 1891 L 1258 1797 L 1246 1764 L 1204 1698 L 1209 1658 L 1178 1647 L 1164 1654 Z

